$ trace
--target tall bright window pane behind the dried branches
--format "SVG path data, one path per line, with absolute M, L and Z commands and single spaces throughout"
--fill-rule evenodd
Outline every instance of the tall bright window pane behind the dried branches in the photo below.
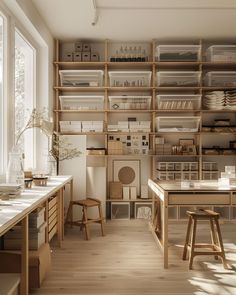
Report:
M 35 49 L 15 31 L 15 138 L 27 123 L 35 105 Z M 26 130 L 17 146 L 24 154 L 24 167 L 35 167 L 34 129 Z

